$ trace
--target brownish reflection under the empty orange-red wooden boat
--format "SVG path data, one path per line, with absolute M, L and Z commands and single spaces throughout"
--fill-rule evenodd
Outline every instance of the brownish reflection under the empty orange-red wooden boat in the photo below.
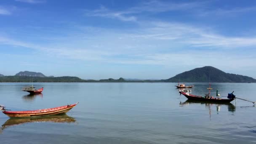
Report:
M 50 122 L 50 123 L 75 123 L 75 118 L 69 117 L 66 114 L 53 115 L 46 117 L 29 117 L 29 118 L 10 118 L 2 125 L 2 130 L 13 125 L 21 125 L 24 123 L 40 123 L 40 122 Z

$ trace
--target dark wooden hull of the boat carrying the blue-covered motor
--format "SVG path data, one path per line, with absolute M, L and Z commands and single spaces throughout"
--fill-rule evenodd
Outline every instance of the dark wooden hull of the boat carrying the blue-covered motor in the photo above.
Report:
M 208 98 L 205 98 L 203 96 L 196 96 L 196 95 L 192 95 L 192 94 L 189 94 L 189 93 L 184 93 L 182 91 L 180 91 L 179 93 L 186 96 L 186 98 L 189 99 L 189 100 L 206 101 L 206 102 L 214 102 L 214 103 L 229 103 L 229 102 L 231 102 L 235 99 L 235 98 L 231 98 L 231 99 L 208 99 Z

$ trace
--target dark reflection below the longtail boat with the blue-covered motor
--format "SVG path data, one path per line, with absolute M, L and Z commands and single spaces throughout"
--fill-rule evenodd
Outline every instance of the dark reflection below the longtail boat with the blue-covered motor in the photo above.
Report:
M 195 101 L 195 100 L 187 100 L 185 102 L 180 102 L 180 106 L 185 106 L 185 105 L 189 105 L 189 104 L 205 104 L 205 108 L 209 109 L 209 115 L 211 118 L 211 111 L 213 109 L 213 107 L 216 107 L 216 112 L 217 114 L 219 114 L 219 112 L 221 111 L 221 106 L 227 106 L 227 109 L 229 112 L 232 112 L 232 114 L 234 114 L 235 112 L 235 106 L 231 103 L 213 103 L 213 102 L 205 102 L 205 101 Z

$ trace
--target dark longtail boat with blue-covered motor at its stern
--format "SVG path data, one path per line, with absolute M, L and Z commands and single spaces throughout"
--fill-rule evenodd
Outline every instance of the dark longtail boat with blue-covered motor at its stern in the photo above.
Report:
M 220 99 L 220 98 L 213 98 L 213 96 L 196 96 L 189 93 L 184 93 L 182 91 L 179 91 L 180 94 L 183 94 L 186 96 L 189 100 L 196 100 L 196 101 L 205 101 L 205 102 L 213 102 L 213 103 L 229 103 L 235 99 L 235 95 L 233 93 L 228 94 L 229 99 Z

